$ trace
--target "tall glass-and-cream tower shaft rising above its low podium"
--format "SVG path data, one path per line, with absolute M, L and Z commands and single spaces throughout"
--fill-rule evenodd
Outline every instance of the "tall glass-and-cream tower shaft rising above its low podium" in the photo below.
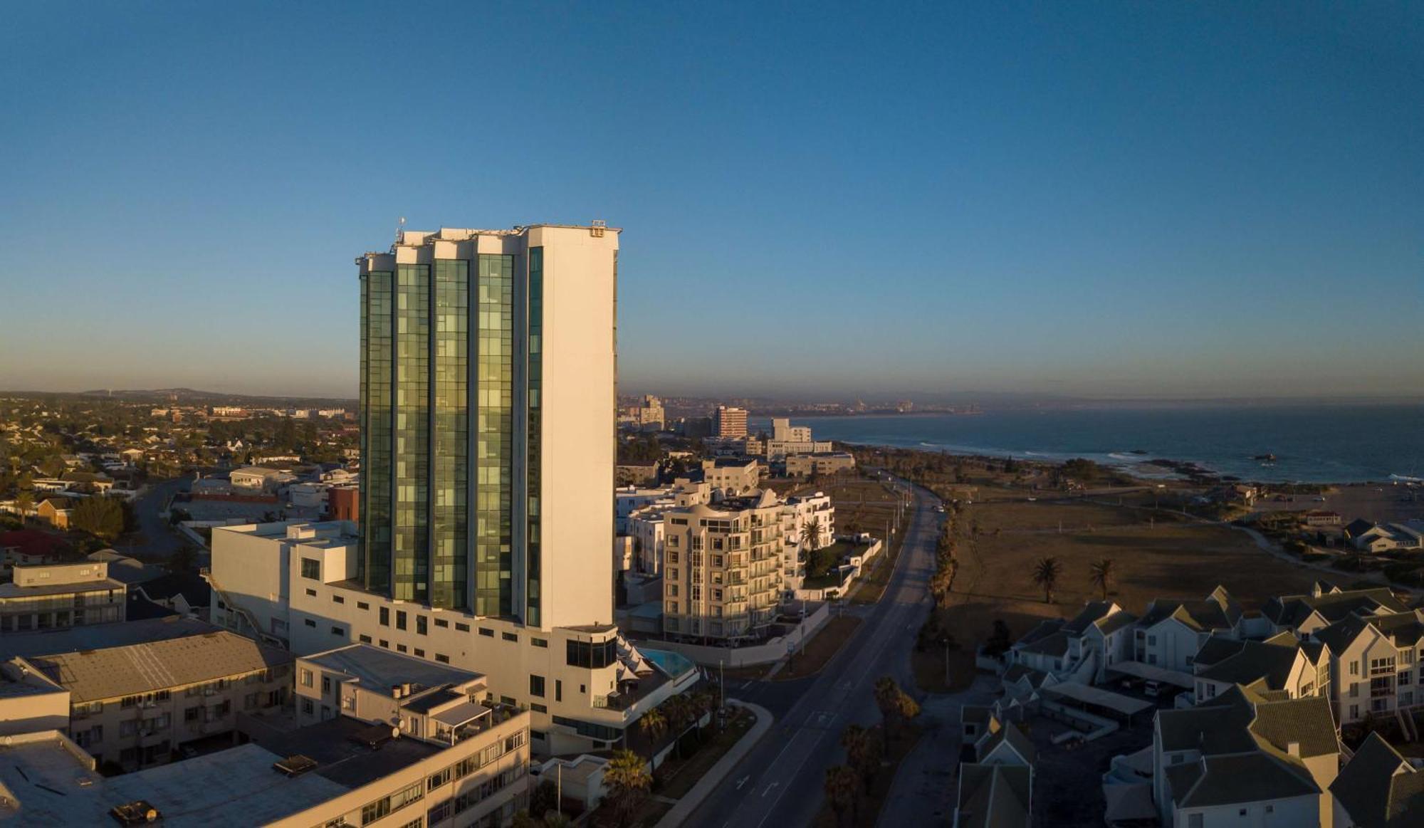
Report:
M 396 600 L 612 620 L 618 230 L 403 230 L 360 267 L 362 555 Z

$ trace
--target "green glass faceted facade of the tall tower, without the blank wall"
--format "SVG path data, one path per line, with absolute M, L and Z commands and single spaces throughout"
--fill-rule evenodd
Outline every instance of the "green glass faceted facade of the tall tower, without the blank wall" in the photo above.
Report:
M 400 263 L 360 292 L 359 579 L 540 626 L 544 249 Z

